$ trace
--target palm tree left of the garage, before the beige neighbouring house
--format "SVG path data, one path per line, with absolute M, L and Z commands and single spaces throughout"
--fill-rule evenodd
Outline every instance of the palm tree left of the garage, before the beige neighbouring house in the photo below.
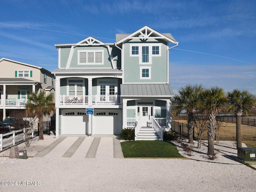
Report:
M 30 93 L 28 95 L 28 103 L 26 104 L 26 110 L 29 114 L 34 114 L 38 118 L 39 124 L 39 139 L 44 139 L 43 123 L 44 116 L 52 116 L 55 112 L 54 104 L 52 103 L 52 94 L 46 95 L 44 91 L 36 93 Z

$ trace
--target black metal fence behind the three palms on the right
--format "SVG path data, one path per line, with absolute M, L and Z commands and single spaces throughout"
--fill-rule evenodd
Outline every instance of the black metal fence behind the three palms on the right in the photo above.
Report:
M 188 135 L 187 124 L 172 121 L 172 130 L 178 132 L 183 137 Z M 242 140 L 256 140 L 256 127 L 255 126 L 241 126 Z M 202 140 L 207 140 L 207 130 L 202 135 Z M 198 139 L 197 131 L 194 130 L 193 138 Z M 215 140 L 236 140 L 236 126 L 219 126 L 216 130 Z

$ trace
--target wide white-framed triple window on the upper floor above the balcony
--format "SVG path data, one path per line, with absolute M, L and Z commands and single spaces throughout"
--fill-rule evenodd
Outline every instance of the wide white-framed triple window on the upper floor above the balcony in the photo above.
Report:
M 78 50 L 78 64 L 103 64 L 103 50 Z

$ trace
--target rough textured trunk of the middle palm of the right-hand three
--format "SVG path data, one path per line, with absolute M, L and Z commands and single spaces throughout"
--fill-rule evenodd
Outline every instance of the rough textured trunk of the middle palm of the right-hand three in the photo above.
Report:
M 216 133 L 216 114 L 214 112 L 210 113 L 209 123 L 208 123 L 208 155 L 214 156 L 214 140 Z

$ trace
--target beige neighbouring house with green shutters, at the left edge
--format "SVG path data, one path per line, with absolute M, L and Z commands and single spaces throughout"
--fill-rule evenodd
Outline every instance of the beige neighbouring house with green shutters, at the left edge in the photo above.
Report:
M 55 97 L 55 77 L 50 71 L 6 58 L 0 59 L 0 68 L 1 122 L 16 112 L 24 112 L 30 92 L 44 90 Z

